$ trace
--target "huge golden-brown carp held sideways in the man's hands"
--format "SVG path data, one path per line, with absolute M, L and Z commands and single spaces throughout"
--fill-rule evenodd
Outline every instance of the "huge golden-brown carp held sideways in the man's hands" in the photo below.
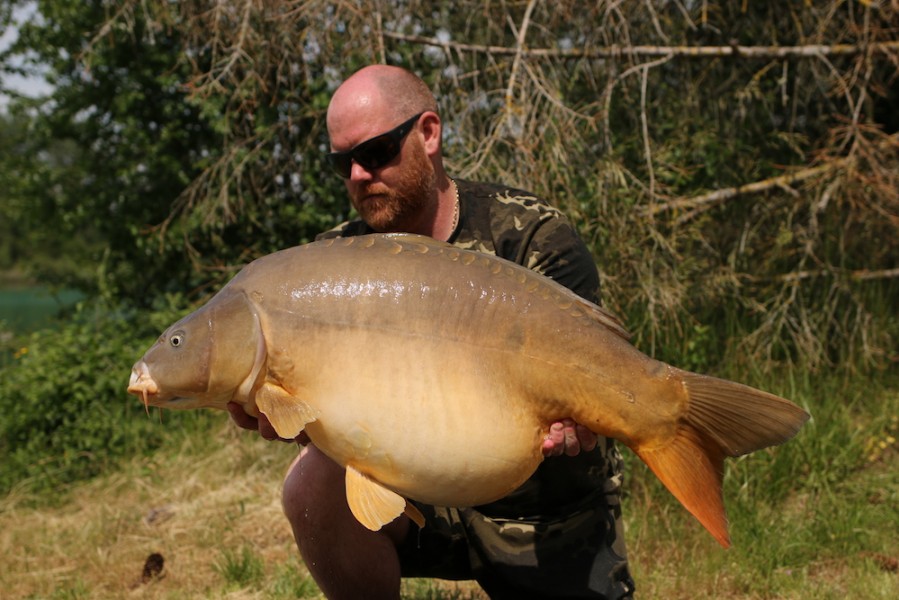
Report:
M 537 468 L 572 418 L 634 451 L 723 546 L 724 459 L 790 439 L 795 404 L 677 369 L 615 317 L 509 261 L 412 235 L 325 240 L 247 265 L 169 327 L 128 392 L 172 409 L 240 403 L 346 468 L 377 530 L 407 498 L 477 506 Z

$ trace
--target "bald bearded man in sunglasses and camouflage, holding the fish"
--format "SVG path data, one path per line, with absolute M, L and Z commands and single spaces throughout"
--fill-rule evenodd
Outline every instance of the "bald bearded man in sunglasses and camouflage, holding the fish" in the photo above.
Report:
M 590 253 L 561 213 L 526 192 L 450 179 L 436 101 L 412 73 L 385 65 L 356 72 L 334 93 L 327 125 L 329 162 L 361 219 L 320 237 L 427 235 L 598 299 Z M 264 417 L 229 408 L 239 425 L 276 437 Z M 372 532 L 347 507 L 343 468 L 308 444 L 284 481 L 284 510 L 329 598 L 397 598 L 401 577 L 476 579 L 492 598 L 630 597 L 620 455 L 570 420 L 550 427 L 543 452 L 531 479 L 500 501 L 462 509 L 417 503 L 424 528 L 401 516 Z

